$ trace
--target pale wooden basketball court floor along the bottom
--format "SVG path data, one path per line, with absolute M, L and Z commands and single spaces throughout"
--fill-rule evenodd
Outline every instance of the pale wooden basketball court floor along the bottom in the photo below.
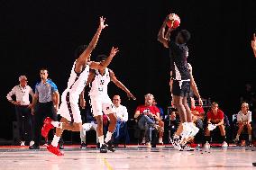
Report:
M 254 151 L 255 149 L 255 151 Z M 117 148 L 112 153 L 99 153 L 96 148 L 65 146 L 64 156 L 57 157 L 44 147 L 0 147 L 0 170 L 159 170 L 159 169 L 256 169 L 256 148 L 197 148 L 181 152 L 171 147 Z

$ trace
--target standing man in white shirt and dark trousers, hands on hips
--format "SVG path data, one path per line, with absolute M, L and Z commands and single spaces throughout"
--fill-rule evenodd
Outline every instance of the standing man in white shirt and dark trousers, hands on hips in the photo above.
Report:
M 27 77 L 19 77 L 20 85 L 14 88 L 6 96 L 10 103 L 15 105 L 16 119 L 18 122 L 21 146 L 25 146 L 25 141 L 32 140 L 32 103 L 30 102 L 30 94 L 33 97 L 32 88 L 27 85 Z M 15 95 L 15 101 L 12 96 Z M 30 142 L 32 145 L 33 141 Z

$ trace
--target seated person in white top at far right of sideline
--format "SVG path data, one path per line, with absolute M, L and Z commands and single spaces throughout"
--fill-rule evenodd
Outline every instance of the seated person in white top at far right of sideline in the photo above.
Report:
M 237 113 L 238 131 L 235 140 L 239 141 L 240 134 L 244 127 L 247 127 L 249 134 L 249 143 L 251 143 L 251 111 L 249 111 L 249 104 L 242 103 L 241 111 Z

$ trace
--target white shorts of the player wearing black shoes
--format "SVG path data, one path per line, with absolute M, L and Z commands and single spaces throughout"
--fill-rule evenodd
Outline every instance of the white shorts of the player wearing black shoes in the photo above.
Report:
M 94 117 L 115 112 L 114 104 L 108 95 L 91 96 Z

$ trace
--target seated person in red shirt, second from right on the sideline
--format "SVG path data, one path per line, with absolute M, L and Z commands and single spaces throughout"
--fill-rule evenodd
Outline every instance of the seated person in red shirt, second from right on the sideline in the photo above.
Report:
M 221 131 L 221 137 L 223 140 L 223 145 L 222 147 L 226 148 L 227 143 L 226 143 L 226 137 L 225 137 L 225 127 L 224 127 L 224 112 L 221 111 L 218 108 L 218 103 L 212 103 L 211 105 L 211 110 L 207 112 L 207 124 L 208 126 L 206 127 L 206 148 L 209 148 L 209 142 L 210 142 L 210 131 L 214 130 L 216 127 L 218 127 Z

